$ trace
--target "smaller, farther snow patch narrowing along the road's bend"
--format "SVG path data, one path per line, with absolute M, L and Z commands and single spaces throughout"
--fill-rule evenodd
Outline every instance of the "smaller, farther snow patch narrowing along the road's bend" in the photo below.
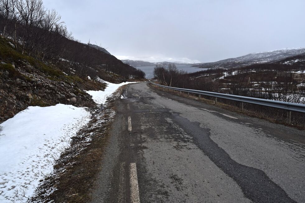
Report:
M 125 82 L 125 83 L 120 83 L 120 84 L 114 84 L 114 83 L 109 83 L 106 81 L 104 81 L 104 82 L 107 83 L 107 87 L 105 88 L 105 91 L 102 91 L 102 90 L 86 91 L 88 94 L 90 94 L 92 96 L 93 101 L 95 101 L 95 103 L 97 103 L 97 104 L 105 104 L 107 97 L 110 96 L 113 92 L 115 92 L 115 90 L 117 90 L 117 88 L 119 88 L 125 84 L 136 83 L 136 82 Z

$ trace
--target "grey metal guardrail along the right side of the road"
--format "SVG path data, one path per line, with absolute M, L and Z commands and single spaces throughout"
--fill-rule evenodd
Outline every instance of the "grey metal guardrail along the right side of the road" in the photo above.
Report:
M 243 97 L 243 96 L 237 96 L 237 95 L 232 95 L 232 94 L 207 92 L 207 91 L 200 91 L 200 90 L 193 90 L 193 89 L 174 88 L 174 87 L 168 87 L 168 86 L 156 84 L 153 82 L 150 82 L 150 83 L 152 83 L 156 86 L 162 87 L 162 88 L 198 94 L 199 97 L 200 97 L 200 95 L 206 95 L 206 96 L 211 96 L 211 97 L 215 97 L 215 98 L 218 97 L 218 98 L 230 99 L 230 100 L 234 100 L 234 101 L 246 102 L 246 103 L 250 103 L 250 104 L 258 104 L 258 105 L 262 105 L 262 106 L 269 106 L 269 107 L 284 109 L 284 110 L 288 111 L 287 112 L 287 123 L 289 123 L 289 124 L 290 124 L 291 111 L 305 113 L 304 104 L 297 104 L 297 103 L 285 102 L 285 101 L 274 101 L 274 100 L 268 100 L 268 99 L 259 99 L 259 98 L 254 98 L 254 97 Z M 215 99 L 215 102 L 217 102 L 216 99 Z

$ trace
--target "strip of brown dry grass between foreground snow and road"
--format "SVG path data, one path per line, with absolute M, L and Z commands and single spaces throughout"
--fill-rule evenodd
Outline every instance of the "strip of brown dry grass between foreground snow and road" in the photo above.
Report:
M 83 203 L 91 200 L 90 191 L 101 171 L 104 148 L 110 137 L 114 101 L 115 98 L 110 98 L 106 108 L 71 138 L 70 147 L 56 159 L 54 174 L 45 177 L 32 201 Z

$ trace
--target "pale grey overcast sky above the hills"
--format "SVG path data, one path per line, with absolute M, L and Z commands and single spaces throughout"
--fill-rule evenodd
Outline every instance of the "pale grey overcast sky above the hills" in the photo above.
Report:
M 43 0 L 119 59 L 212 62 L 305 47 L 304 0 Z

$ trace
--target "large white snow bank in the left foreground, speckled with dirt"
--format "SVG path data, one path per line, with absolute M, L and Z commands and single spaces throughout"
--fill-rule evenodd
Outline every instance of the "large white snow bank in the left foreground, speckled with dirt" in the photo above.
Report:
M 90 116 L 72 105 L 29 106 L 0 124 L 0 202 L 25 202 L 32 196 L 43 174 L 53 170 L 53 156 Z

